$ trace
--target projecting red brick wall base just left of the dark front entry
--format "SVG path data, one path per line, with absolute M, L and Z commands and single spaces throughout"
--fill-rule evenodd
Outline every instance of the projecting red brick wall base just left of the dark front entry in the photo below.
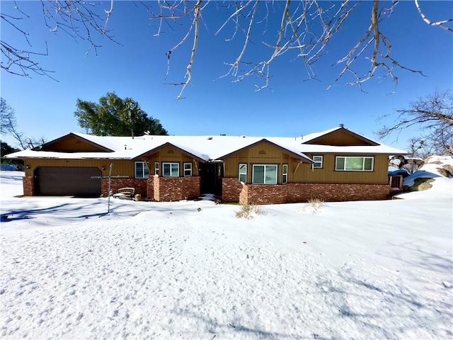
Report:
M 154 177 L 154 200 L 171 202 L 198 197 L 200 197 L 199 176 Z

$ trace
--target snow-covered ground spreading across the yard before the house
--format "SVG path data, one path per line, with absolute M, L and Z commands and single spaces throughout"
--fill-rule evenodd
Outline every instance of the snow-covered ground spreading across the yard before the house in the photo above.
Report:
M 2 339 L 452 339 L 453 180 L 401 200 L 20 198 L 1 171 Z

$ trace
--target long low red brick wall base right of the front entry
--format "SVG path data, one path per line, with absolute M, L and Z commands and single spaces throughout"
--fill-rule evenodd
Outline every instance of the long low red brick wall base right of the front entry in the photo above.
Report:
M 388 184 L 288 183 L 267 186 L 246 184 L 240 193 L 241 204 L 275 204 L 306 202 L 320 198 L 328 202 L 345 200 L 385 200 Z

